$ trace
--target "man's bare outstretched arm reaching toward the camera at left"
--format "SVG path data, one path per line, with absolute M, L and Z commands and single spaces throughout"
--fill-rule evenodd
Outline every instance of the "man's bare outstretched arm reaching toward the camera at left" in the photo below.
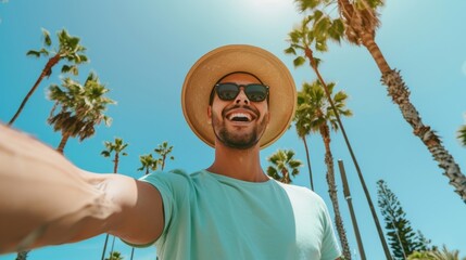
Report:
M 111 233 L 147 244 L 163 230 L 156 188 L 84 171 L 37 140 L 0 126 L 0 253 Z

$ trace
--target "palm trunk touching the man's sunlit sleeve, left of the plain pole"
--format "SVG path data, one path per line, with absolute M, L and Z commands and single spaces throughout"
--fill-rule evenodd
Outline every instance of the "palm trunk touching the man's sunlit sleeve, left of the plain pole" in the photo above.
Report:
M 337 226 L 337 233 L 340 237 L 341 247 L 343 249 L 343 257 L 345 260 L 351 260 L 350 246 L 348 245 L 347 232 L 344 230 L 343 220 L 341 219 L 340 207 L 338 205 L 338 195 L 337 195 L 337 184 L 335 182 L 335 171 L 333 171 L 333 157 L 331 156 L 330 151 L 330 134 L 328 126 L 323 126 L 320 128 L 320 134 L 324 139 L 325 144 L 325 164 L 327 165 L 327 184 L 328 193 L 330 195 L 330 200 L 333 206 L 335 213 L 335 225 Z

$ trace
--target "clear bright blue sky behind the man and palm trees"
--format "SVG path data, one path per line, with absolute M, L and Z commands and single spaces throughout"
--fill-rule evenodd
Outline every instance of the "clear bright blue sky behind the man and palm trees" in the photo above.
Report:
M 111 1 L 42 0 L 2 1 L 0 3 L 0 120 L 5 122 L 39 76 L 46 60 L 27 57 L 30 49 L 40 49 L 41 30 L 55 32 L 66 28 L 87 48 L 90 63 L 80 67 L 84 82 L 90 70 L 111 89 L 109 96 L 118 104 L 108 114 L 110 128 L 99 127 L 97 134 L 78 143 L 71 140 L 65 156 L 77 166 L 96 172 L 111 172 L 112 162 L 100 156 L 103 141 L 121 136 L 129 143 L 128 156 L 121 160 L 123 174 L 136 171 L 138 156 L 153 151 L 163 141 L 174 145 L 174 161 L 167 168 L 196 171 L 213 160 L 213 150 L 190 131 L 180 107 L 184 77 L 190 66 L 207 51 L 229 43 L 247 43 L 269 50 L 290 68 L 298 89 L 313 81 L 308 67 L 294 69 L 288 48 L 288 32 L 298 24 L 291 0 L 197 0 L 197 1 Z M 393 68 L 401 69 L 412 91 L 411 100 L 426 125 L 442 138 L 444 146 L 466 169 L 466 148 L 455 139 L 466 123 L 466 2 L 388 1 L 381 10 L 381 27 L 376 41 Z M 462 29 L 463 28 L 463 29 Z M 376 182 L 386 180 L 401 202 L 413 229 L 420 230 L 433 245 L 445 244 L 466 256 L 466 205 L 449 185 L 424 146 L 402 119 L 399 108 L 380 84 L 380 73 L 369 53 L 343 42 L 330 46 L 323 58 L 323 76 L 337 82 L 337 90 L 349 95 L 354 113 L 343 123 L 361 165 L 365 181 L 377 205 Z M 15 127 L 36 135 L 53 147 L 60 142 L 46 119 L 52 103 L 46 99 L 51 83 L 60 83 L 60 69 L 43 80 L 26 105 Z M 332 133 L 335 159 L 342 159 L 351 186 L 362 238 L 368 259 L 383 259 L 369 208 L 356 177 L 341 133 Z M 318 135 L 308 139 L 315 191 L 331 209 L 325 181 L 324 146 Z M 290 129 L 278 142 L 262 151 L 262 164 L 278 148 L 292 148 L 305 161 L 302 142 Z M 35 172 L 40 174 L 40 172 Z M 336 167 L 340 210 L 350 247 L 358 259 L 357 245 L 341 179 Z M 303 167 L 293 180 L 308 186 Z M 377 212 L 379 212 L 376 206 Z M 331 211 L 331 210 L 330 210 Z M 332 214 L 332 213 L 331 213 Z M 383 220 L 380 217 L 380 221 Z M 0 231 L 1 233 L 1 231 Z M 32 260 L 100 259 L 104 236 L 78 244 L 51 246 L 30 252 Z M 129 259 L 130 248 L 117 240 L 115 249 Z M 135 259 L 155 259 L 155 249 L 137 249 Z M 13 255 L 0 260 L 14 259 Z

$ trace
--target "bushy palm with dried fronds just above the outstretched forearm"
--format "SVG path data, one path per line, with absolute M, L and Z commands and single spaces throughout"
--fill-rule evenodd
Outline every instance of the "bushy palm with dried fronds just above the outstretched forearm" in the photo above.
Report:
M 103 113 L 106 105 L 115 104 L 104 96 L 109 89 L 99 82 L 93 73 L 89 74 L 84 86 L 65 78 L 62 87 L 63 89 L 56 84 L 50 86 L 49 99 L 55 101 L 55 104 L 48 119 L 54 131 L 62 132 L 62 140 L 56 148 L 60 153 L 63 153 L 70 138 L 79 136 L 79 141 L 83 141 L 92 136 L 96 126 L 102 120 L 110 126 L 111 118 Z M 55 114 L 59 106 L 61 109 Z

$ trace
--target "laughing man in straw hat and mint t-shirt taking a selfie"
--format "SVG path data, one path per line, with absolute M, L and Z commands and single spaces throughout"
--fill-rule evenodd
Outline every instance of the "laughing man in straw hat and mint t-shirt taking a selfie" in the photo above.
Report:
M 215 147 L 205 170 L 141 181 L 76 168 L 21 133 L 0 131 L 0 252 L 111 233 L 155 244 L 160 259 L 337 259 L 323 200 L 269 179 L 260 150 L 288 128 L 295 89 L 287 67 L 251 46 L 202 56 L 181 96 L 188 125 Z M 7 199 L 8 197 L 8 199 Z

